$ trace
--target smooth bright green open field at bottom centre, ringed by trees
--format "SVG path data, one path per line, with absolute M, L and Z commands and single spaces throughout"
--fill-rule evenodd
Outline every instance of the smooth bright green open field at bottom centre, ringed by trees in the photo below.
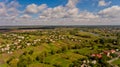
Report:
M 65 53 L 48 56 L 44 59 L 44 62 L 50 63 L 52 65 L 57 64 L 57 65 L 61 65 L 62 67 L 69 67 L 72 61 L 75 61 L 79 58 L 85 58 L 85 56 L 80 54 L 75 54 L 72 52 L 65 52 Z

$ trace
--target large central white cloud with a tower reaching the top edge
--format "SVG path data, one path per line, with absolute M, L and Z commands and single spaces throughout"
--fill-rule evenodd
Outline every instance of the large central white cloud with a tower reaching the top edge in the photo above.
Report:
M 57 6 L 54 8 L 47 8 L 40 14 L 40 18 L 79 18 L 79 19 L 93 19 L 98 18 L 98 15 L 88 11 L 80 11 L 76 5 L 78 0 L 69 0 L 65 7 Z

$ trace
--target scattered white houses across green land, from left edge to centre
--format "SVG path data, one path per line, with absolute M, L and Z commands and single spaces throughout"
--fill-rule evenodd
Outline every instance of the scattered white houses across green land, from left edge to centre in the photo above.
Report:
M 47 32 L 43 32 L 43 34 L 45 34 Z M 48 34 L 48 33 L 47 33 Z M 28 38 L 30 38 L 30 36 L 20 36 L 18 34 L 2 34 L 1 37 L 3 38 L 11 38 L 12 42 L 11 43 L 0 43 L 0 53 L 12 53 L 12 51 L 17 50 L 17 49 L 21 49 L 27 46 L 34 46 L 37 43 L 49 43 L 49 42 L 56 42 L 59 40 L 65 40 L 65 39 L 70 39 L 70 41 L 75 41 L 75 42 L 80 42 L 81 39 L 75 38 L 75 37 L 69 37 L 66 35 L 61 35 L 61 34 L 57 34 L 55 32 L 51 32 L 49 33 L 50 36 L 46 37 L 46 38 L 39 38 L 39 39 L 35 39 L 33 41 L 27 41 Z M 49 35 L 48 34 L 48 35 Z M 54 34 L 54 35 L 52 35 Z M 56 35 L 55 35 L 56 34 Z M 21 45 L 24 44 L 24 45 Z

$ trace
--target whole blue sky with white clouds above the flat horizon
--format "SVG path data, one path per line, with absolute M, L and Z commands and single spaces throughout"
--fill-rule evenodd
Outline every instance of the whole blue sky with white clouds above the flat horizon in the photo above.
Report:
M 120 0 L 0 0 L 9 25 L 120 25 Z

